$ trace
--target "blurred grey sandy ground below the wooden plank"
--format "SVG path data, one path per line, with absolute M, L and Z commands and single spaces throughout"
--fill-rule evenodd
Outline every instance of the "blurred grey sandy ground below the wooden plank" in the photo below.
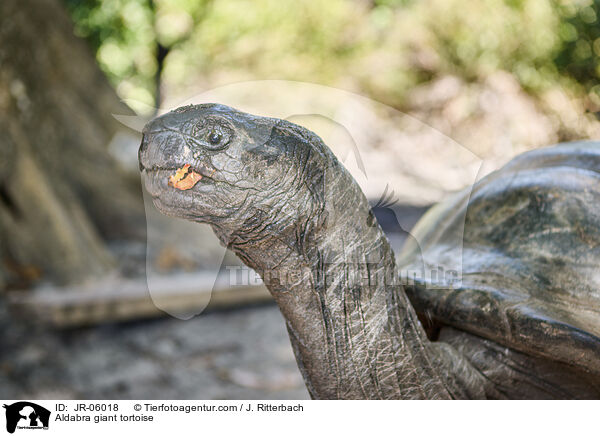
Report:
M 54 334 L 12 320 L 3 330 L 4 399 L 308 399 L 274 304 Z

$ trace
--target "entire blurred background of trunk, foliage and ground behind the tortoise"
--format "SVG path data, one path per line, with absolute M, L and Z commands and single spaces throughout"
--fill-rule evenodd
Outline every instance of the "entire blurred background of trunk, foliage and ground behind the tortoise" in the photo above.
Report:
M 377 172 L 361 186 L 399 246 L 516 154 L 600 138 L 599 14 L 600 0 L 3 0 L 0 396 L 308 398 L 260 283 L 230 286 L 224 265 L 240 264 L 209 229 L 191 238 L 144 204 L 140 127 L 214 89 L 379 102 L 345 105 L 341 133 L 290 119 L 340 158 L 360 143 Z M 236 87 L 265 80 L 314 85 Z

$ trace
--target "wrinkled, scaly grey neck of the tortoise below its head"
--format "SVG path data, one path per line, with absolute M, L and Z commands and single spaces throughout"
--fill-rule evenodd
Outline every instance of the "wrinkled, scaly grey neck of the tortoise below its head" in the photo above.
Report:
M 447 356 L 439 356 L 418 323 L 387 238 L 367 219 L 366 198 L 338 169 L 319 212 L 325 219 L 307 220 L 302 231 L 291 226 L 233 238 L 230 248 L 263 276 L 277 301 L 313 398 L 461 396 L 449 392 L 454 383 L 440 369 Z

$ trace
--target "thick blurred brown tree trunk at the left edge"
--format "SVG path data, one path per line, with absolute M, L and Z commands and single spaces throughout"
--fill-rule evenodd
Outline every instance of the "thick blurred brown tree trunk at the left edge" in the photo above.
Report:
M 0 2 L 0 287 L 77 282 L 145 232 L 140 188 L 111 158 L 129 114 L 58 0 Z

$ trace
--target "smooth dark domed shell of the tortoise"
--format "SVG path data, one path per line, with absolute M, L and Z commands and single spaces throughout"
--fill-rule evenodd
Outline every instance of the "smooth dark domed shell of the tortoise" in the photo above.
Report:
M 411 234 L 397 262 L 422 317 L 600 373 L 600 142 L 525 153 Z

